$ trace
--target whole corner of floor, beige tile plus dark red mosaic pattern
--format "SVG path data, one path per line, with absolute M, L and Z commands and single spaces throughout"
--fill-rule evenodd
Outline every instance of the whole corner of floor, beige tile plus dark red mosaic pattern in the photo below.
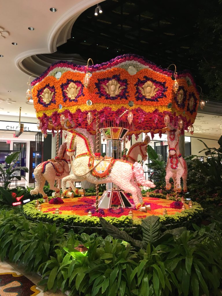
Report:
M 0 261 L 0 296 L 64 296 L 62 292 L 43 292 L 41 277 L 14 263 Z

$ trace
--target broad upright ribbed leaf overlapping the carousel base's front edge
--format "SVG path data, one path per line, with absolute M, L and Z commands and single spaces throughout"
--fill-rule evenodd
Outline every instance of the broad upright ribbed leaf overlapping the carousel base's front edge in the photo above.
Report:
M 160 229 L 162 224 L 160 223 L 160 218 L 152 215 L 145 218 L 141 223 L 141 228 L 143 231 L 143 242 L 147 245 L 152 244 L 160 237 Z

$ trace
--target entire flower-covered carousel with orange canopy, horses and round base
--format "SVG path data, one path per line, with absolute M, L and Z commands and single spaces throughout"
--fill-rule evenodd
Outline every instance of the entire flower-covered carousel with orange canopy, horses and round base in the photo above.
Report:
M 152 193 L 142 196 L 140 185 L 155 187 L 145 180 L 137 162 L 138 154 L 147 158 L 148 136 L 122 156 L 132 135 L 138 139 L 142 132 L 152 138 L 155 133 L 166 133 L 166 189 L 170 190 L 172 178 L 174 191 L 187 191 L 186 162 L 178 143 L 185 130 L 194 131 L 199 94 L 192 76 L 176 73 L 175 65 L 170 65 L 173 71 L 162 69 L 133 54 L 100 65 L 89 63 L 93 64 L 91 59 L 87 66 L 57 62 L 31 83 L 38 128 L 45 137 L 47 130 L 56 132 L 57 142 L 63 133 L 65 143 L 57 147 L 55 159 L 36 167 L 31 194 L 43 194 L 44 203 L 31 202 L 24 212 L 42 221 L 62 223 L 65 219 L 72 225 L 96 227 L 101 216 L 119 227 L 140 224 L 147 215 L 160 215 L 166 223 L 192 219 L 201 207 L 178 196 L 173 200 L 176 193 L 170 198 L 152 197 Z M 104 157 L 101 135 L 107 141 Z M 133 149 L 138 150 L 135 156 Z M 52 199 L 43 192 L 46 180 L 56 192 Z M 77 192 L 75 182 L 80 181 L 96 184 L 96 193 L 84 196 L 83 189 Z M 99 184 L 104 183 L 106 190 L 99 195 Z

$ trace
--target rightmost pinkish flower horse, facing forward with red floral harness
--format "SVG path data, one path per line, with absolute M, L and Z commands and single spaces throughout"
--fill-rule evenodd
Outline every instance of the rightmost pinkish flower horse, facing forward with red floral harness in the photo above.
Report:
M 170 178 L 173 179 L 174 191 L 181 191 L 181 178 L 183 179 L 183 190 L 187 191 L 186 179 L 187 179 L 187 166 L 186 161 L 181 156 L 179 151 L 179 136 L 178 130 L 166 131 L 167 141 L 169 146 L 169 156 L 166 166 L 166 189 L 171 188 L 169 182 Z

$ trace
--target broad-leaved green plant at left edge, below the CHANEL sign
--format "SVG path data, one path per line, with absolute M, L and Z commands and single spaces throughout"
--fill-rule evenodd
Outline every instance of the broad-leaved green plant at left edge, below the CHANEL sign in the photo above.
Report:
M 21 151 L 11 153 L 5 159 L 7 166 L 0 165 L 0 183 L 2 185 L 2 188 L 6 189 L 6 190 L 10 187 L 12 180 L 14 178 L 17 180 L 21 180 L 21 178 L 24 178 L 23 176 L 16 176 L 15 172 L 20 171 L 20 170 L 24 170 L 26 173 L 28 172 L 28 168 L 26 168 L 26 167 L 15 166 L 15 163 L 19 159 L 20 153 L 21 153 Z

